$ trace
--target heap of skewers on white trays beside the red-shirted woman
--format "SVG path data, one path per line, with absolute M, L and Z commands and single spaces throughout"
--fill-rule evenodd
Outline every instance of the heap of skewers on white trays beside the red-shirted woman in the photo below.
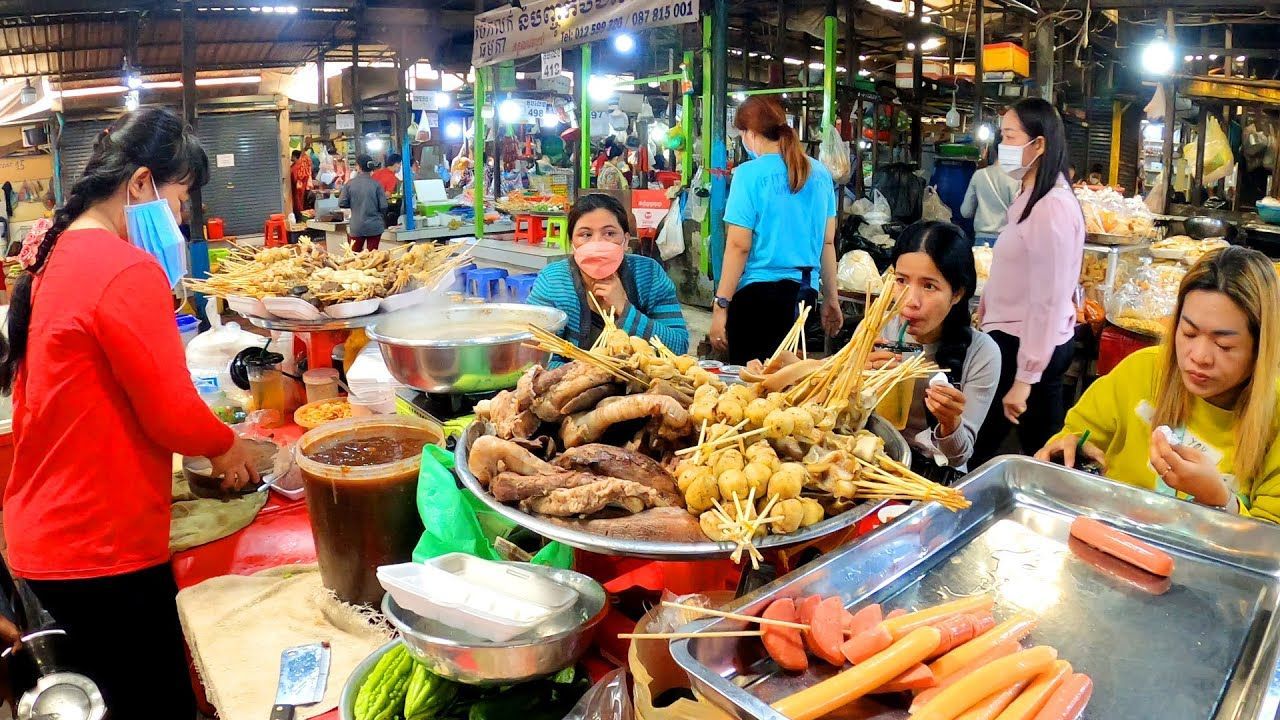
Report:
M 330 254 L 303 240 L 285 247 L 237 247 L 216 273 L 186 283 L 253 316 L 319 322 L 376 313 L 384 299 L 435 288 L 468 261 L 451 246 Z

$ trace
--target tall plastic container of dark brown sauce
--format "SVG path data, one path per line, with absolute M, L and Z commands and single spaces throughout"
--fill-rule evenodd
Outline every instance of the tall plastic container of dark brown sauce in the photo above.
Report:
M 408 562 L 422 534 L 417 473 L 440 428 L 408 416 L 326 423 L 298 439 L 320 579 L 355 605 L 383 598 L 380 565 Z

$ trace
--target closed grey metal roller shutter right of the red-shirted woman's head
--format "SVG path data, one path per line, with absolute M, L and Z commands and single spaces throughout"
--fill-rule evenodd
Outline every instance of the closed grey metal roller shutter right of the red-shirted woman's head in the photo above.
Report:
M 205 217 L 221 218 L 227 234 L 259 234 L 282 208 L 280 123 L 274 113 L 201 115 L 200 142 L 209 154 Z M 232 167 L 219 168 L 218 156 Z

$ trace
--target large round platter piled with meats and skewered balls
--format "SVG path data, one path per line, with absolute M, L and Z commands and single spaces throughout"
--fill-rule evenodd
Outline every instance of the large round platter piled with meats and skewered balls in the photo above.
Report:
M 458 475 L 543 537 L 654 559 L 756 562 L 762 548 L 826 537 L 882 501 L 964 507 L 964 496 L 908 468 L 902 437 L 870 413 L 896 383 L 937 372 L 918 357 L 864 372 L 904 297 L 878 296 L 852 342 L 826 360 L 804 357 L 804 309 L 778 351 L 733 386 L 612 322 L 590 350 L 530 328 L 570 363 L 534 366 L 477 405 Z

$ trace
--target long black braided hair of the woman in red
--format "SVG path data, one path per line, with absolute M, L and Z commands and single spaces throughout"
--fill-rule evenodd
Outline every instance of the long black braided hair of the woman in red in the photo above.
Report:
M 115 195 L 140 168 L 151 170 L 156 186 L 183 182 L 200 187 L 209 182 L 209 156 L 196 133 L 173 110 L 143 108 L 127 113 L 99 136 L 84 173 L 72 186 L 67 204 L 54 213 L 54 224 L 41 240 L 35 261 L 14 284 L 6 337 L 0 338 L 0 392 L 13 391 L 27 354 L 32 283 L 58 238 L 86 210 Z

